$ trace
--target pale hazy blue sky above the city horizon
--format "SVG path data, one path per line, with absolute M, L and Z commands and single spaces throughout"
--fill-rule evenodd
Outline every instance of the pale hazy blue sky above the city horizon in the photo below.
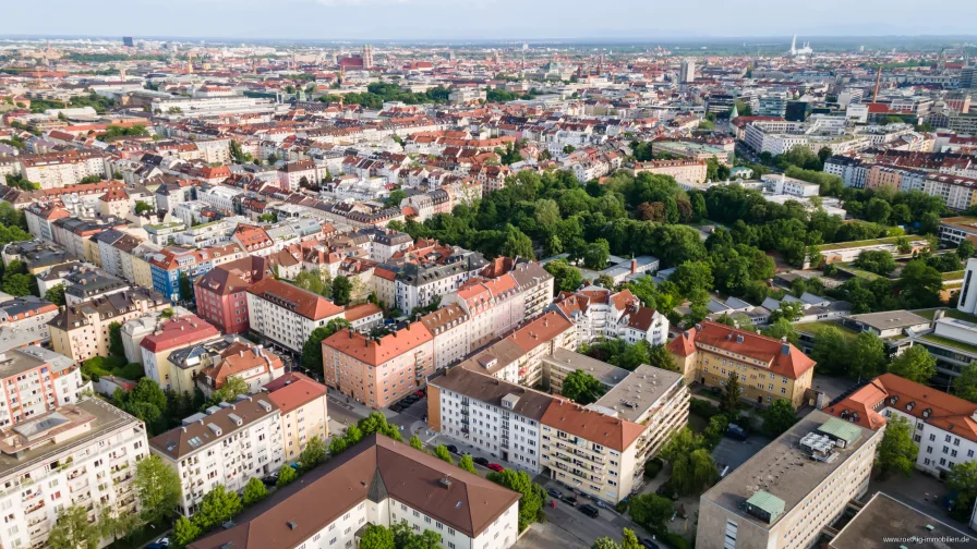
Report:
M 975 21 L 977 0 L 0 0 L 0 35 L 654 40 L 973 35 Z

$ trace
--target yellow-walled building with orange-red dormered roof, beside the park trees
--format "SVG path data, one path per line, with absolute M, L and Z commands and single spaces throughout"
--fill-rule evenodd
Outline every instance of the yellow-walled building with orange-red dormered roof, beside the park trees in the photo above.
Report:
M 685 330 L 667 349 L 687 385 L 724 387 L 735 373 L 741 398 L 757 404 L 787 399 L 801 406 L 815 374 L 815 361 L 792 343 L 711 321 Z

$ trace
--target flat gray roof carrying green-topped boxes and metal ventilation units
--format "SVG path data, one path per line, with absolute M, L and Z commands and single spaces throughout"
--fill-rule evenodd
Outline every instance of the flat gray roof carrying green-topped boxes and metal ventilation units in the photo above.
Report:
M 813 411 L 801 418 L 787 432 L 767 444 L 746 463 L 702 495 L 709 500 L 735 513 L 747 521 L 752 521 L 764 529 L 770 529 L 783 515 L 771 524 L 747 513 L 740 507 L 759 490 L 784 500 L 784 515 L 803 501 L 815 488 L 861 448 L 873 436 L 881 431 L 872 431 L 864 427 L 861 437 L 848 448 L 834 448 L 837 456 L 830 463 L 811 460 L 799 447 L 805 435 L 813 432 L 829 419 L 834 418 L 821 411 Z M 854 425 L 854 424 L 853 424 Z

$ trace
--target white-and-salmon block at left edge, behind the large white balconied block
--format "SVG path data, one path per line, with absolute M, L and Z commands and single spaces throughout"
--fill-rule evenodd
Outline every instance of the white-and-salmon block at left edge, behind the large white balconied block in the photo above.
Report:
M 36 345 L 0 353 L 0 428 L 79 402 L 85 389 L 79 365 Z

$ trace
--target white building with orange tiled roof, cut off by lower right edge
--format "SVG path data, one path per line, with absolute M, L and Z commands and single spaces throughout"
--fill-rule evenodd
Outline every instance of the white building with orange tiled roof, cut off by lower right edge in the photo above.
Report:
M 933 476 L 977 459 L 977 404 L 895 374 L 882 374 L 824 412 L 872 430 L 902 417 L 919 447 L 916 468 Z

